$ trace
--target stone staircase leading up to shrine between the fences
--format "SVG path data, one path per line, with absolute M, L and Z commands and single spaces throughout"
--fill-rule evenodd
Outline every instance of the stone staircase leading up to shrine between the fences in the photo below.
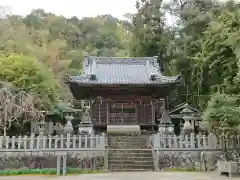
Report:
M 152 171 L 152 150 L 143 135 L 108 134 L 109 171 Z

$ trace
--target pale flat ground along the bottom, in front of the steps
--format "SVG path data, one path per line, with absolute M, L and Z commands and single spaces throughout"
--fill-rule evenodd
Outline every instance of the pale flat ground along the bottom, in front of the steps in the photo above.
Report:
M 198 172 L 129 172 L 129 173 L 106 173 L 106 174 L 84 174 L 77 176 L 12 176 L 0 177 L 0 180 L 227 180 L 228 177 L 217 173 Z M 234 177 L 232 180 L 239 180 Z

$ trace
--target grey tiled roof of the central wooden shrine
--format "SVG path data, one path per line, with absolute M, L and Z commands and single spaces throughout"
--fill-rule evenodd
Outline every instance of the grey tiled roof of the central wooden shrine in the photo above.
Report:
M 164 85 L 177 84 L 180 76 L 167 77 L 159 71 L 156 57 L 91 57 L 84 60 L 84 73 L 67 82 L 79 85 Z

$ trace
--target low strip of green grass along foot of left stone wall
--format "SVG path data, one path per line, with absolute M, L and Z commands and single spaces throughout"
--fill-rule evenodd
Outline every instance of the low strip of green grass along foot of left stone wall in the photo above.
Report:
M 80 168 L 67 168 L 67 174 L 92 174 L 102 173 L 103 171 L 85 170 Z M 56 168 L 47 169 L 8 169 L 0 170 L 0 176 L 16 176 L 16 175 L 56 175 Z

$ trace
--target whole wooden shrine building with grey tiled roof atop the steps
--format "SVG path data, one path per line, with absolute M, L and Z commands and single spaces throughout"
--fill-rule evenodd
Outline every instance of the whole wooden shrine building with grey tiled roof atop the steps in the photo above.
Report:
M 157 57 L 84 59 L 84 72 L 67 79 L 76 100 L 88 100 L 94 129 L 137 125 L 157 127 L 158 100 L 181 81 L 159 71 Z

